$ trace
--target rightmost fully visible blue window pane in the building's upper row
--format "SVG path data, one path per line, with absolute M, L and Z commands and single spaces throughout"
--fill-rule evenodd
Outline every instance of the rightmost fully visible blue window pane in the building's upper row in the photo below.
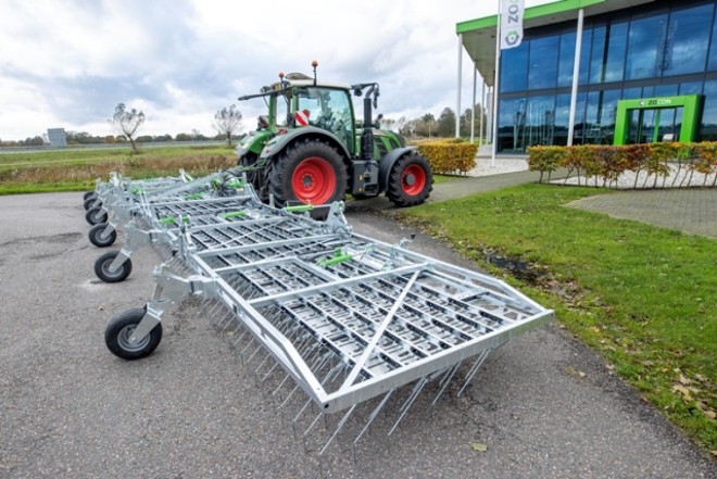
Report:
M 706 4 L 672 12 L 663 46 L 663 75 L 704 72 L 713 10 Z

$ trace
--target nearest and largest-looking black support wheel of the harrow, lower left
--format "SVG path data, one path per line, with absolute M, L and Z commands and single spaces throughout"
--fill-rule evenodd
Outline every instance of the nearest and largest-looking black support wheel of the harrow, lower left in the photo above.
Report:
M 162 323 L 158 324 L 139 344 L 129 344 L 129 337 L 144 317 L 143 307 L 134 307 L 116 314 L 104 329 L 104 344 L 117 357 L 127 361 L 147 357 L 162 341 Z

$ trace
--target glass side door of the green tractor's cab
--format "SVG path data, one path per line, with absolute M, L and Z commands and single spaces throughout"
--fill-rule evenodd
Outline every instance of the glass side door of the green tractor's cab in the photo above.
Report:
M 301 112 L 309 125 L 331 131 L 355 152 L 353 103 L 349 91 L 326 87 L 304 87 L 294 91 L 297 112 Z

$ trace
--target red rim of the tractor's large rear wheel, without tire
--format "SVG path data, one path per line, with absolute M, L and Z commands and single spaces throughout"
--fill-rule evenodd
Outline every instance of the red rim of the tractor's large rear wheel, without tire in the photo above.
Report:
M 336 191 L 336 174 L 329 162 L 311 156 L 293 171 L 291 187 L 297 200 L 302 203 L 328 203 Z

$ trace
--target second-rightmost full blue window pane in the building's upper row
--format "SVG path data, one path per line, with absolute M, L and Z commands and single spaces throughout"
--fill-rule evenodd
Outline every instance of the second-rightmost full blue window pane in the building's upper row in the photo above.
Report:
M 661 46 L 665 43 L 666 27 L 666 14 L 632 21 L 628 35 L 625 79 L 659 75 L 657 53 L 662 53 Z M 662 54 L 659 58 L 662 59 Z

